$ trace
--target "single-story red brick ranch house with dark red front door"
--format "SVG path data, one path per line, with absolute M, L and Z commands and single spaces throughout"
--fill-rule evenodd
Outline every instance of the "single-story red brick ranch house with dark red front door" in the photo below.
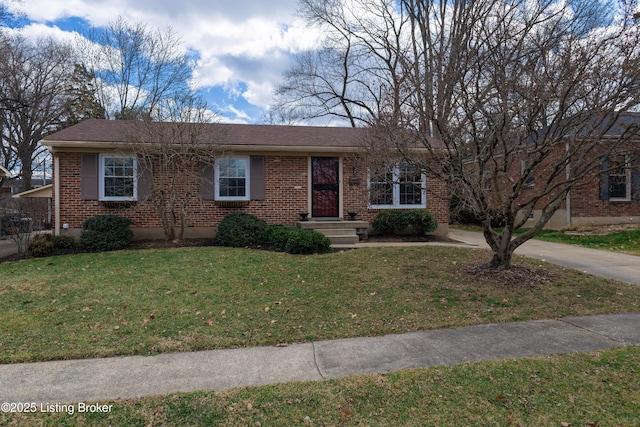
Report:
M 54 159 L 54 229 L 77 235 L 83 220 L 98 214 L 131 218 L 136 238 L 161 238 L 153 204 L 137 174 L 139 159 L 127 152 L 134 122 L 87 120 L 43 140 Z M 153 126 L 169 126 L 156 123 Z M 187 212 L 185 237 L 210 237 L 236 211 L 272 224 L 341 221 L 356 213 L 368 226 L 379 209 L 427 208 L 437 234 L 446 235 L 446 187 L 399 163 L 394 182 L 370 182 L 356 158 L 366 130 L 335 127 L 210 124 L 224 135 L 215 167 L 201 164 L 199 197 Z M 156 177 L 157 179 L 157 177 Z M 116 183 L 125 184 L 116 188 Z M 383 191 L 371 192 L 370 189 Z M 371 200 L 370 200 L 371 199 Z M 345 221 L 348 222 L 348 221 Z

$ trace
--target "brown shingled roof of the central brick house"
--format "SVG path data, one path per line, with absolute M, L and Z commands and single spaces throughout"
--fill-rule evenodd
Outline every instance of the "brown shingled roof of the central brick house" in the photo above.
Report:
M 132 141 L 157 142 L 177 126 L 199 135 L 201 142 L 217 143 L 234 151 L 355 152 L 369 134 L 365 128 L 276 126 L 219 123 L 167 123 L 91 119 L 63 129 L 43 139 L 51 151 L 65 149 L 113 148 Z M 184 132 L 188 135 L 189 132 Z M 155 135 L 155 137 L 154 137 Z M 154 141 L 154 139 L 156 141 Z

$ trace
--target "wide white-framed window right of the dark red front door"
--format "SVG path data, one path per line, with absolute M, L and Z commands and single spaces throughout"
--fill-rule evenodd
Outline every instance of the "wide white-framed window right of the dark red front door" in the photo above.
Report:
M 426 178 L 403 161 L 369 172 L 369 205 L 372 208 L 426 207 Z

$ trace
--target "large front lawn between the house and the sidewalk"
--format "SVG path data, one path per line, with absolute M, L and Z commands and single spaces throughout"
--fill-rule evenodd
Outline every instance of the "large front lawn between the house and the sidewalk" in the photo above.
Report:
M 134 250 L 0 265 L 0 363 L 232 348 L 637 311 L 640 287 L 552 265 L 534 289 L 477 280 L 469 248 L 292 256 Z M 539 261 L 517 259 L 538 265 Z

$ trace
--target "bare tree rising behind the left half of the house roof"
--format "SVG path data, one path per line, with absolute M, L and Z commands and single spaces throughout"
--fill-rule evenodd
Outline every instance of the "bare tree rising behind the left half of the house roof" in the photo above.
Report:
M 78 41 L 108 118 L 148 119 L 163 100 L 190 92 L 193 61 L 170 29 L 120 17 Z

